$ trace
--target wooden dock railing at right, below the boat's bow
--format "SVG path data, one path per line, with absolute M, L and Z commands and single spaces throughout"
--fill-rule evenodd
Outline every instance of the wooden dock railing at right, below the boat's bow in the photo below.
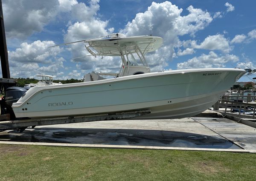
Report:
M 224 108 L 222 111 L 225 113 L 238 112 L 239 116 L 245 114 L 248 115 L 248 113 L 250 113 L 250 117 L 255 119 L 255 101 L 256 95 L 224 95 L 217 103 L 213 105 L 213 108 L 214 110 Z

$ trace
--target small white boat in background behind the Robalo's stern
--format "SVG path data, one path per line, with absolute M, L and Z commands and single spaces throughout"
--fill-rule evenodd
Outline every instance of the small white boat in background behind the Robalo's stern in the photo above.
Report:
M 54 83 L 53 82 L 53 78 L 56 76 L 52 76 L 52 75 L 36 75 L 37 77 L 40 77 L 41 80 L 38 81 L 38 83 L 29 83 L 29 84 L 25 84 L 24 88 L 25 89 L 30 89 L 31 87 L 35 87 L 35 86 L 49 86 L 49 85 L 59 85 L 62 83 Z

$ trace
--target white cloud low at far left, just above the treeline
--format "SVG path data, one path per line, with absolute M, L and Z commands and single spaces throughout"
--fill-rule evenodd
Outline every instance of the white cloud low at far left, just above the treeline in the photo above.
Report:
M 63 50 L 60 47 L 48 48 L 55 45 L 53 41 L 37 40 L 31 44 L 22 43 L 20 48 L 9 51 L 9 65 L 12 77 L 32 77 L 39 72 L 56 74 L 63 68 L 62 57 L 57 57 Z M 49 66 L 42 66 L 49 65 Z

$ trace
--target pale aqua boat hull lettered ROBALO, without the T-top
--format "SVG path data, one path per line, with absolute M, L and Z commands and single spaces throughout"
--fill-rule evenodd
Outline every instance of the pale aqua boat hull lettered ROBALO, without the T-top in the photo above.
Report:
M 29 89 L 12 109 L 20 117 L 56 117 L 149 109 L 138 119 L 183 118 L 208 109 L 241 69 L 190 69 Z

